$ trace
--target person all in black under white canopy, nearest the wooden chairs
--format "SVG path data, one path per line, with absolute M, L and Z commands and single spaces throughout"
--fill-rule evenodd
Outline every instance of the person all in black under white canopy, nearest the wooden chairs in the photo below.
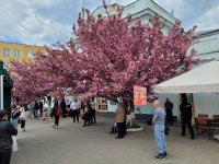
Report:
M 193 107 L 192 104 L 187 102 L 187 98 L 184 97 L 183 102 L 180 106 L 180 110 L 181 110 L 181 119 L 182 119 L 182 137 L 185 137 L 185 126 L 187 125 L 187 128 L 189 130 L 191 133 L 191 139 L 195 139 L 195 134 L 193 131 L 193 127 L 192 127 L 192 118 L 193 118 Z

